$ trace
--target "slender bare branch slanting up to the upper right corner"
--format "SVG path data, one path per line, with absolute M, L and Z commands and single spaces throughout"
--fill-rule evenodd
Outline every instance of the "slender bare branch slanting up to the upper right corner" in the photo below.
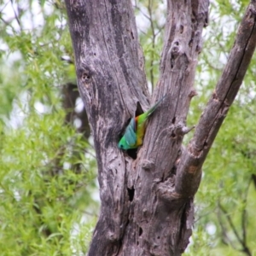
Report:
M 240 88 L 256 45 L 256 1 L 252 0 L 241 20 L 236 41 L 224 72 L 207 108 L 201 114 L 195 135 L 184 151 L 177 168 L 175 190 L 178 195 L 195 195 L 201 177 L 201 166 L 207 157 L 228 110 Z

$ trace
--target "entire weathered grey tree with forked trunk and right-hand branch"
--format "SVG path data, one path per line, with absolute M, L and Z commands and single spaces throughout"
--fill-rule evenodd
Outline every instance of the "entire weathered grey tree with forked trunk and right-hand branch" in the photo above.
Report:
M 96 255 L 180 255 L 189 243 L 201 166 L 236 96 L 256 43 L 255 1 L 188 148 L 189 102 L 208 1 L 168 0 L 160 80 L 166 95 L 148 122 L 137 159 L 117 148 L 127 121 L 148 108 L 143 55 L 130 1 L 66 0 L 79 80 L 98 163 L 101 214 L 90 244 Z M 231 68 L 231 69 L 230 69 Z

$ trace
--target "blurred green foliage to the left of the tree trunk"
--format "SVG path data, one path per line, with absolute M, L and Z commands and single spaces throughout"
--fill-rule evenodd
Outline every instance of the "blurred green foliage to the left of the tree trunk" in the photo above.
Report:
M 75 82 L 61 61 L 73 57 L 65 9 L 50 1 L 0 9 L 1 255 L 86 253 L 98 212 L 96 160 L 67 122 L 75 110 L 62 104 L 64 84 Z

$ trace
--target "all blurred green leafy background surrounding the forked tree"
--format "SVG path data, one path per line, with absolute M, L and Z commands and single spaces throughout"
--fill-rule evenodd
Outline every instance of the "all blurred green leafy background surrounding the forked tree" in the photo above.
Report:
M 189 111 L 195 125 L 248 1 L 212 1 Z M 148 86 L 157 83 L 166 2 L 134 1 Z M 185 255 L 256 255 L 256 59 L 203 168 Z M 186 137 L 187 143 L 189 141 Z M 61 1 L 0 2 L 1 255 L 80 255 L 99 211 L 90 127 Z

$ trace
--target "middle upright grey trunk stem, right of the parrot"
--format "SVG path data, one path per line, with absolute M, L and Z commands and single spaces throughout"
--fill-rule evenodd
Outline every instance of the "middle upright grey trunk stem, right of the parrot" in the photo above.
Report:
M 166 95 L 166 99 L 149 122 L 137 156 L 129 218 L 132 227 L 125 232 L 124 255 L 180 255 L 189 243 L 193 195 L 180 198 L 174 184 L 182 130 L 195 96 L 195 67 L 208 4 L 205 0 L 168 1 L 160 81 L 154 91 L 155 98 Z

